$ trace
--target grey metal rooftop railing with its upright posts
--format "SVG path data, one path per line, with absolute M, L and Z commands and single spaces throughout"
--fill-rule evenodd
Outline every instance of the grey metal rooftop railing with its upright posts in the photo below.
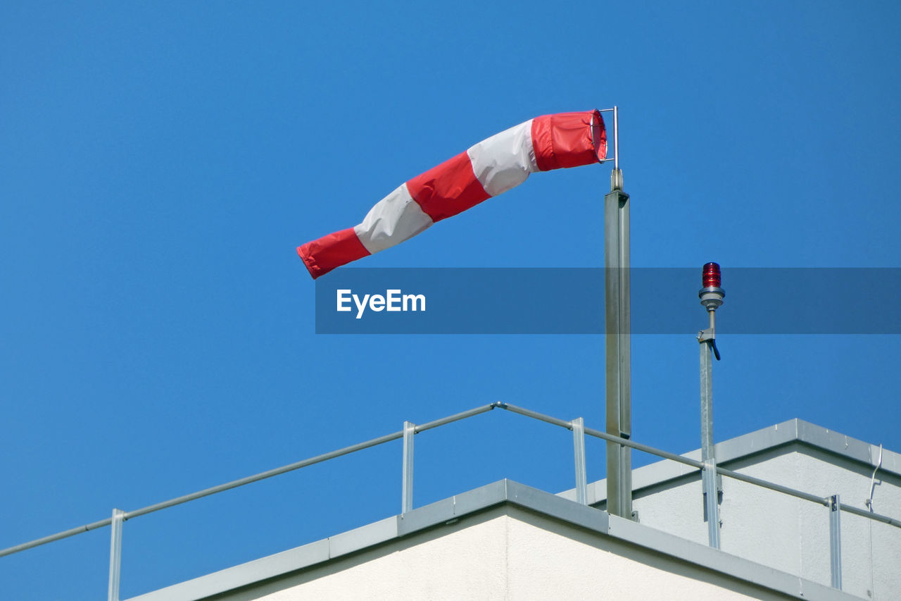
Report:
M 585 436 L 591 436 L 596 439 L 603 439 L 608 442 L 614 442 L 616 444 L 623 445 L 624 447 L 634 448 L 635 450 L 642 451 L 644 453 L 649 453 L 651 455 L 655 455 L 660 458 L 669 459 L 670 461 L 676 461 L 677 463 L 681 463 L 686 466 L 695 467 L 700 471 L 704 471 L 705 469 L 712 469 L 715 477 L 717 474 L 721 474 L 723 476 L 731 477 L 736 480 L 740 480 L 742 482 L 746 482 L 751 485 L 761 486 L 763 488 L 767 488 L 769 490 L 775 491 L 777 493 L 782 493 L 784 495 L 794 496 L 799 499 L 804 499 L 805 501 L 809 501 L 815 504 L 821 504 L 824 507 L 828 507 L 830 509 L 829 515 L 829 524 L 830 524 L 830 550 L 831 550 L 831 568 L 832 568 L 832 585 L 836 588 L 842 587 L 842 561 L 841 561 L 841 512 L 852 513 L 854 515 L 859 515 L 860 517 L 867 518 L 869 520 L 874 520 L 876 522 L 887 523 L 891 526 L 895 526 L 896 528 L 901 528 L 901 520 L 897 520 L 895 518 L 889 517 L 887 515 L 882 515 L 880 513 L 873 513 L 863 509 L 859 509 L 857 507 L 852 507 L 851 505 L 846 505 L 840 503 L 839 495 L 813 495 L 811 493 L 805 493 L 804 491 L 796 490 L 795 488 L 791 488 L 789 486 L 778 485 L 773 482 L 769 482 L 768 480 L 763 480 L 758 477 L 748 476 L 746 474 L 741 474 L 739 472 L 735 472 L 731 469 L 726 469 L 725 467 L 717 467 L 715 465 L 705 465 L 702 461 L 697 461 L 696 459 L 691 459 L 687 457 L 683 457 L 681 455 L 677 455 L 675 453 L 670 453 L 669 451 L 661 450 L 660 448 L 654 448 L 648 445 L 644 445 L 640 442 L 635 442 L 632 439 L 623 439 L 618 436 L 614 436 L 612 434 L 607 434 L 601 430 L 595 430 L 593 428 L 585 427 L 584 421 L 582 418 L 576 418 L 572 421 L 560 420 L 555 417 L 551 417 L 550 415 L 545 415 L 544 413 L 539 413 L 538 411 L 531 411 L 529 409 L 524 409 L 523 407 L 517 407 L 516 405 L 511 405 L 505 402 L 492 402 L 487 405 L 481 405 L 474 409 L 470 409 L 469 411 L 462 411 L 460 413 L 455 413 L 453 415 L 449 415 L 447 417 L 443 417 L 439 420 L 429 421 L 423 424 L 414 424 L 409 421 L 404 422 L 404 429 L 396 432 L 392 432 L 391 434 L 386 434 L 385 436 L 380 436 L 376 439 L 370 439 L 365 442 L 359 442 L 355 445 L 350 445 L 350 447 L 339 448 L 328 453 L 323 453 L 322 455 L 317 455 L 313 458 L 303 459 L 301 461 L 296 461 L 295 463 L 287 464 L 286 466 L 276 467 L 273 469 L 269 469 L 265 472 L 260 472 L 259 474 L 255 474 L 253 476 L 246 476 L 240 478 L 238 480 L 232 480 L 232 482 L 226 482 L 222 485 L 212 486 L 210 488 L 205 488 L 204 490 L 199 490 L 196 493 L 191 493 L 189 495 L 178 496 L 174 499 L 169 499 L 168 501 L 163 501 L 161 503 L 147 505 L 146 507 L 142 507 L 141 509 L 135 509 L 131 512 L 123 512 L 119 509 L 114 509 L 111 517 L 106 518 L 105 520 L 99 520 L 97 522 L 87 523 L 83 526 L 78 526 L 77 528 L 71 528 L 69 530 L 63 532 L 57 532 L 56 534 L 50 534 L 50 536 L 45 536 L 40 539 L 35 539 L 34 541 L 23 542 L 22 544 L 15 545 L 14 547 L 8 547 L 7 549 L 0 550 L 0 557 L 4 557 L 6 555 L 12 555 L 13 553 L 17 553 L 26 549 L 32 549 L 33 547 L 38 547 L 43 544 L 47 544 L 52 541 L 59 541 L 61 539 L 68 538 L 70 536 L 74 536 L 76 534 L 80 534 L 81 532 L 88 532 L 91 530 L 96 530 L 97 528 L 103 528 L 105 526 L 111 525 L 113 526 L 111 541 L 110 541 L 110 576 L 109 576 L 109 590 L 108 590 L 108 600 L 109 601 L 119 601 L 119 577 L 120 577 L 120 567 L 121 567 L 121 557 L 122 557 L 122 528 L 123 522 L 127 520 L 131 520 L 132 518 L 138 517 L 140 515 L 146 515 L 147 513 L 158 512 L 162 509 L 166 509 L 168 507 L 173 507 L 178 504 L 187 503 L 188 501 L 194 501 L 195 499 L 200 499 L 205 496 L 215 495 L 216 493 L 221 493 L 223 491 L 237 488 L 238 486 L 248 485 L 251 482 L 258 482 L 259 480 L 264 480 L 266 478 L 270 478 L 272 476 L 278 476 L 280 474 L 285 474 L 287 472 L 294 471 L 296 469 L 300 469 L 301 467 L 312 466 L 317 463 L 322 463 L 323 461 L 327 461 L 332 458 L 338 458 L 342 455 L 348 455 L 350 453 L 362 450 L 364 448 L 376 447 L 380 444 L 384 444 L 386 442 L 390 442 L 391 440 L 403 439 L 404 440 L 404 453 L 403 453 L 403 484 L 401 487 L 401 513 L 407 513 L 412 511 L 414 508 L 413 505 L 413 460 L 414 460 L 414 446 L 413 446 L 413 438 L 415 434 L 423 432 L 425 430 L 432 430 L 432 428 L 438 428 L 439 426 L 443 426 L 454 421 L 465 420 L 467 418 L 473 417 L 474 415 L 478 415 L 479 413 L 485 413 L 487 411 L 491 411 L 493 409 L 503 409 L 505 411 L 510 411 L 513 413 L 518 413 L 525 417 L 532 418 L 534 420 L 545 421 L 547 423 L 553 424 L 555 426 L 560 426 L 561 428 L 566 428 L 567 430 L 572 430 L 573 433 L 573 451 L 574 451 L 574 464 L 575 464 L 575 472 L 576 472 L 576 500 L 579 504 L 588 504 L 588 495 L 587 495 L 587 472 L 586 472 L 586 458 L 585 458 Z M 682 476 L 689 476 L 690 474 L 683 474 Z

